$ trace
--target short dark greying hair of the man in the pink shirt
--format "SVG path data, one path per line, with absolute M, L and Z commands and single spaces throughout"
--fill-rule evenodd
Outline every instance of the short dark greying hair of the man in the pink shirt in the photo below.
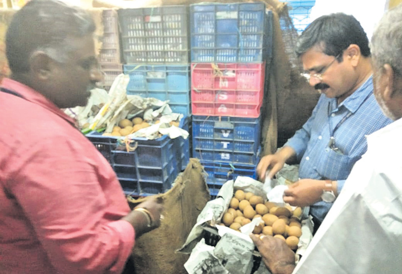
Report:
M 6 35 L 6 55 L 13 73 L 29 71 L 29 59 L 43 51 L 64 62 L 71 49 L 68 37 L 84 37 L 96 26 L 86 11 L 56 0 L 31 0 L 14 16 Z

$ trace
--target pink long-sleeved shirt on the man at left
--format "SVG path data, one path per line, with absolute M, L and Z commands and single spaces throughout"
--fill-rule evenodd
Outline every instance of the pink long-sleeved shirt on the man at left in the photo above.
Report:
M 120 273 L 134 246 L 109 163 L 74 120 L 11 79 L 0 92 L 0 273 Z

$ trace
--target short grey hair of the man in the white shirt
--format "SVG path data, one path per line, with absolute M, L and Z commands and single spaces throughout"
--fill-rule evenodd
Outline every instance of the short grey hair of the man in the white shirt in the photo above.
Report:
M 402 5 L 388 11 L 376 26 L 370 43 L 373 65 L 389 64 L 402 73 Z

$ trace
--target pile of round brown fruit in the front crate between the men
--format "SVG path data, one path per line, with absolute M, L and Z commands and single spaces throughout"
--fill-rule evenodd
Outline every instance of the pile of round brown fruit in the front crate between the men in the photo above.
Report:
M 291 249 L 296 250 L 302 234 L 301 214 L 300 207 L 292 210 L 290 206 L 277 206 L 272 202 L 264 202 L 261 196 L 237 190 L 230 200 L 228 210 L 223 214 L 222 223 L 239 231 L 241 226 L 261 217 L 262 222 L 255 227 L 254 234 L 283 239 Z

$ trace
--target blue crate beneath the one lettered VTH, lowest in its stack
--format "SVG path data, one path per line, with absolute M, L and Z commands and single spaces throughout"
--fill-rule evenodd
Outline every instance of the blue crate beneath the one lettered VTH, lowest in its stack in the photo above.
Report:
M 235 180 L 237 176 L 248 176 L 257 179 L 257 164 L 241 165 L 235 163 L 201 161 L 208 173 L 207 185 L 211 198 L 215 199 L 220 188 L 227 180 Z

